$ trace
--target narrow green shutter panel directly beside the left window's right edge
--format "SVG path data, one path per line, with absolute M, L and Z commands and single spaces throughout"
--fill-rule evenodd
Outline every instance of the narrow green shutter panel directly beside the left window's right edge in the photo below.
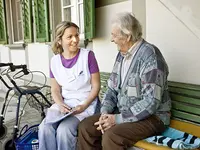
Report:
M 32 1 L 31 0 L 23 0 L 22 13 L 23 13 L 24 41 L 32 42 L 33 24 L 32 24 Z

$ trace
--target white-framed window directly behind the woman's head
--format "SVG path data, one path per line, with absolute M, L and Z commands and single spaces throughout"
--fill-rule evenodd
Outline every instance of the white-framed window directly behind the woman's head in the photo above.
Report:
M 62 0 L 62 20 L 72 21 L 80 28 L 80 36 L 84 38 L 83 0 Z

